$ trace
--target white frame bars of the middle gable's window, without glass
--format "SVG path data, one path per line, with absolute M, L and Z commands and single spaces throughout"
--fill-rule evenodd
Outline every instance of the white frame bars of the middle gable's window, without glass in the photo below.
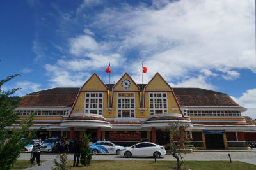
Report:
M 118 94 L 133 94 L 134 97 L 118 97 Z M 118 99 L 121 99 L 121 108 L 118 108 Z M 122 99 L 129 99 L 130 108 L 122 108 Z M 134 108 L 131 106 L 131 99 L 134 99 Z M 121 117 L 118 117 L 118 110 L 121 110 Z M 123 110 L 130 110 L 129 117 L 123 117 Z M 131 111 L 134 110 L 134 117 L 131 117 Z M 136 100 L 134 92 L 118 92 L 116 94 L 116 118 L 136 118 Z

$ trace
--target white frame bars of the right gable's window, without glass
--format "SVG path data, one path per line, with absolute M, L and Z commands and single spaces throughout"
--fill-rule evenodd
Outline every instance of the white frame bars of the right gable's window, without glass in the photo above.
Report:
M 152 94 L 153 97 L 150 97 L 150 94 Z M 154 94 L 161 94 L 161 97 L 155 97 Z M 165 94 L 166 97 L 163 97 L 163 94 Z M 151 106 L 150 106 L 150 99 L 153 99 L 153 107 L 154 108 L 151 108 Z M 155 108 L 155 99 L 161 99 L 161 101 L 162 101 L 162 108 Z M 163 99 L 166 99 L 166 108 L 164 108 L 164 100 Z M 156 110 L 162 110 L 162 114 L 168 114 L 168 96 L 167 96 L 167 92 L 149 92 L 148 93 L 148 106 L 149 106 L 149 114 L 150 114 L 150 116 L 151 115 L 158 115 L 158 114 L 156 114 Z M 152 110 L 153 110 L 154 114 L 151 114 Z M 164 110 L 166 110 L 167 112 L 164 113 Z

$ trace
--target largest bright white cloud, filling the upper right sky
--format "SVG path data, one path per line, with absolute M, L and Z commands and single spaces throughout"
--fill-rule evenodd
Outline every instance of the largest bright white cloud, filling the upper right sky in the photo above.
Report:
M 104 29 L 108 41 L 119 39 L 118 51 L 138 49 L 150 76 L 159 71 L 169 80 L 182 80 L 191 71 L 228 69 L 223 78 L 234 80 L 237 69 L 256 70 L 254 1 L 163 1 L 156 6 L 106 9 L 92 25 Z

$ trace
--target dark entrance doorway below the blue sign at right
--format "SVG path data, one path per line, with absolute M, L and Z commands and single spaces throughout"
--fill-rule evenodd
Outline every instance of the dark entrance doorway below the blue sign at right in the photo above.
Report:
M 225 149 L 223 134 L 205 134 L 207 150 Z

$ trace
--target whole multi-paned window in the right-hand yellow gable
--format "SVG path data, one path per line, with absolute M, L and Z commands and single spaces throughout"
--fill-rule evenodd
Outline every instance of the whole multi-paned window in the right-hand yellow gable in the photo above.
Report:
M 167 114 L 167 93 L 149 93 L 150 115 Z

